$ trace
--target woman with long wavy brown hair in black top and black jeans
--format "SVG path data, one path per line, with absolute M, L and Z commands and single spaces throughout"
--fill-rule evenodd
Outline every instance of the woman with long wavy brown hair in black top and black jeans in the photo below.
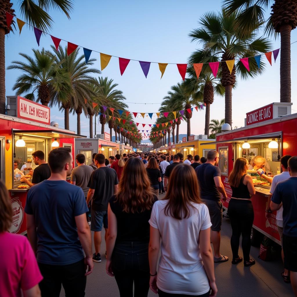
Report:
M 149 291 L 149 218 L 154 202 L 143 162 L 129 158 L 119 191 L 108 204 L 106 272 L 115 276 L 120 296 L 147 296 Z

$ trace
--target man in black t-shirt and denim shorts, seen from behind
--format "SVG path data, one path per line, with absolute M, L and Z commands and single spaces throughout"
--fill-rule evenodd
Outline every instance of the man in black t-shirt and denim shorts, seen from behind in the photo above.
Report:
M 105 241 L 108 229 L 107 209 L 111 196 L 118 191 L 118 177 L 116 170 L 105 166 L 105 156 L 97 154 L 94 158 L 95 165 L 98 169 L 91 174 L 88 183 L 87 204 L 92 201 L 91 209 L 91 230 L 94 231 L 95 253 L 93 254 L 94 262 L 101 262 L 101 231 L 102 226 L 105 228 Z

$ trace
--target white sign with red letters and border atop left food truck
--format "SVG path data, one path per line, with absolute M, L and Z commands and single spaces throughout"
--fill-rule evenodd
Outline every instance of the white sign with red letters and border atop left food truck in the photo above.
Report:
M 18 96 L 18 118 L 50 124 L 50 108 Z

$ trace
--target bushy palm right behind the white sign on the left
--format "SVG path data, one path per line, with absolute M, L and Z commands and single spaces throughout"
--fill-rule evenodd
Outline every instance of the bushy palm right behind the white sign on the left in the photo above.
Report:
M 33 50 L 34 57 L 19 53 L 26 62 L 12 61 L 7 69 L 18 69 L 23 72 L 17 78 L 13 90 L 17 95 L 25 94 L 25 97 L 32 101 L 40 101 L 42 105 L 48 106 L 54 94 L 60 99 L 68 98 L 70 91 L 70 80 L 65 69 L 55 57 L 51 57 L 42 48 L 41 51 Z M 37 92 L 37 98 L 35 93 Z

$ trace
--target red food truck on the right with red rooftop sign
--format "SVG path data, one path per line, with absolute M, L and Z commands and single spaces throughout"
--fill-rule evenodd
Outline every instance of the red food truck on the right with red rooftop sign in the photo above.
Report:
M 234 161 L 244 157 L 250 164 L 256 194 L 252 196 L 255 219 L 252 229 L 252 244 L 260 241 L 260 234 L 280 244 L 276 225 L 276 211 L 270 219 L 265 217 L 265 209 L 270 194 L 271 184 L 257 174 L 257 168 L 263 167 L 273 177 L 280 173 L 280 158 L 284 155 L 297 154 L 297 113 L 291 114 L 292 103 L 275 102 L 247 113 L 245 126 L 225 131 L 216 135 L 219 152 L 219 168 L 228 199 L 223 208 L 228 209 L 232 190 L 228 175 Z M 203 145 L 203 144 L 202 144 Z M 260 160 L 263 164 L 257 163 Z

